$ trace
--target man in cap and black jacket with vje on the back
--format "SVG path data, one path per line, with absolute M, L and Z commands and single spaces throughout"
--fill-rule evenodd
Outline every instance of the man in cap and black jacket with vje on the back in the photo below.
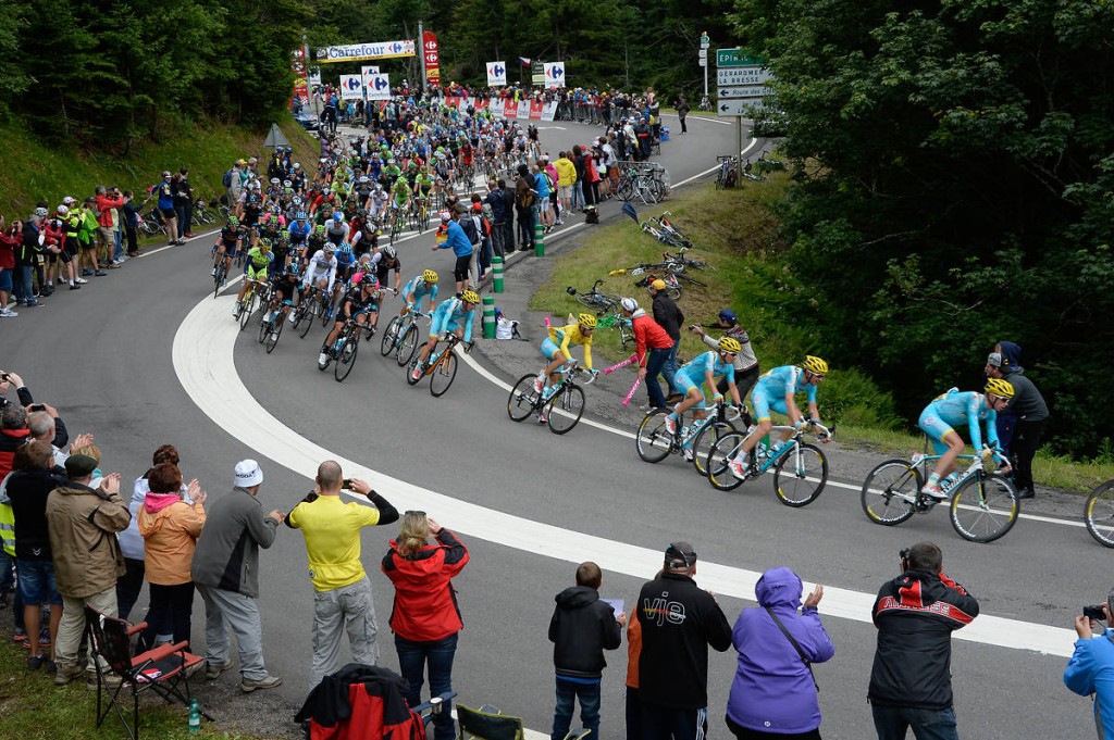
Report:
M 696 549 L 674 542 L 661 574 L 642 586 L 638 700 L 644 740 L 707 736 L 707 648 L 731 647 L 715 594 L 696 585 Z

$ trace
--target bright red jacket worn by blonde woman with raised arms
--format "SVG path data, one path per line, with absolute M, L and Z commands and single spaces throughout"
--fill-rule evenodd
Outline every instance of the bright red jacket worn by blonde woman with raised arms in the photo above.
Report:
M 433 642 L 459 632 L 463 624 L 452 578 L 467 564 L 468 550 L 449 530 L 437 533 L 437 544 L 409 555 L 400 554 L 392 540 L 382 568 L 394 584 L 394 633 L 411 642 Z

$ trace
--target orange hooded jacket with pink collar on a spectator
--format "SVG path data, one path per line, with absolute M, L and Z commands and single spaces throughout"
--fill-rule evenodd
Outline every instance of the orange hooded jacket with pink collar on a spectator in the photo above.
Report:
M 205 526 L 202 505 L 190 506 L 178 493 L 148 493 L 138 519 L 147 581 L 156 585 L 193 581 L 189 566 Z

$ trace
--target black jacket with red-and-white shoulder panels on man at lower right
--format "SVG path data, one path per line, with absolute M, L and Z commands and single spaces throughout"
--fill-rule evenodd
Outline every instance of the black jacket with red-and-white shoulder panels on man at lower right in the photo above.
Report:
M 881 588 L 878 648 L 867 697 L 873 704 L 951 707 L 951 633 L 978 616 L 978 601 L 944 573 L 907 571 Z

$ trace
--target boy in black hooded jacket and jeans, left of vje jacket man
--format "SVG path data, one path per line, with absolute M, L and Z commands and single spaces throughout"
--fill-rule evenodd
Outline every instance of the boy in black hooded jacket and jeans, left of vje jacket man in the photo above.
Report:
M 554 643 L 557 670 L 557 709 L 554 710 L 553 740 L 563 740 L 573 723 L 573 707 L 580 698 L 580 723 L 599 736 L 600 681 L 607 661 L 605 650 L 623 642 L 626 614 L 616 614 L 599 600 L 603 583 L 599 565 L 587 562 L 576 569 L 576 585 L 557 594 L 549 641 Z

